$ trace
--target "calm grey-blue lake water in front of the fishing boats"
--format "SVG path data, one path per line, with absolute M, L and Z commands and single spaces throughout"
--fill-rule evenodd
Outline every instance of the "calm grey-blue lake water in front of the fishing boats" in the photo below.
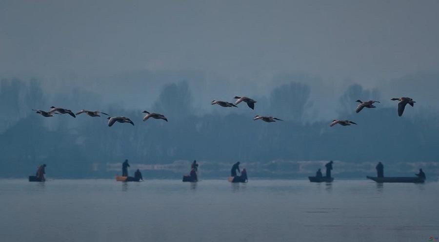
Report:
M 439 183 L 0 180 L 3 242 L 427 242 Z

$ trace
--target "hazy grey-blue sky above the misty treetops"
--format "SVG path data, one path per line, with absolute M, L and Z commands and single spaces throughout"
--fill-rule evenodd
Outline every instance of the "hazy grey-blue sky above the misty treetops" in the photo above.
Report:
M 374 87 L 439 69 L 438 10 L 437 0 L 2 0 L 0 76 L 62 86 L 189 70 L 262 93 L 301 72 L 327 82 L 320 92 Z

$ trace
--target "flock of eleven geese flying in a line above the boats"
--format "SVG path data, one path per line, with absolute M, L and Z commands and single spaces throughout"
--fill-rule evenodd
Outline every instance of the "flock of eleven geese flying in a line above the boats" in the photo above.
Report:
M 216 100 L 214 100 L 214 101 L 211 101 L 210 104 L 212 104 L 212 105 L 218 104 L 221 107 L 238 107 L 237 105 L 240 102 L 246 102 L 248 107 L 250 107 L 251 109 L 255 109 L 255 103 L 257 101 L 255 101 L 255 100 L 253 100 L 251 98 L 238 97 L 238 96 L 236 96 L 235 99 L 237 99 L 237 101 L 235 101 L 235 103 L 228 102 L 228 101 L 216 101 Z M 399 101 L 399 103 L 398 103 L 398 116 L 399 117 L 402 116 L 402 113 L 404 112 L 405 106 L 407 104 L 409 104 L 410 106 L 413 107 L 414 103 L 416 102 L 416 101 L 413 101 L 413 99 L 406 98 L 406 97 L 393 98 L 391 100 L 392 101 Z M 357 106 L 357 109 L 355 110 L 356 113 L 359 113 L 361 110 L 363 110 L 363 108 L 376 108 L 376 106 L 373 105 L 373 104 L 376 103 L 376 102 L 380 103 L 379 101 L 373 101 L 373 100 L 364 101 L 364 102 L 360 101 L 360 100 L 357 100 L 357 102 L 359 102 L 360 104 Z M 32 109 L 32 110 L 36 111 L 36 113 L 38 113 L 41 116 L 46 117 L 46 118 L 53 117 L 54 114 L 59 114 L 59 115 L 69 114 L 73 118 L 76 118 L 76 115 L 80 115 L 82 113 L 85 113 L 85 114 L 87 114 L 90 117 L 100 117 L 100 114 L 103 114 L 103 115 L 107 115 L 108 116 L 108 118 L 107 118 L 108 119 L 108 126 L 110 126 L 110 127 L 115 122 L 131 123 L 134 126 L 134 122 L 131 121 L 129 118 L 126 118 L 126 117 L 110 117 L 110 115 L 108 115 L 106 113 L 103 113 L 103 112 L 100 112 L 100 111 L 88 111 L 88 110 L 82 109 L 82 110 L 80 110 L 79 112 L 77 112 L 75 114 L 70 109 L 54 107 L 54 106 L 51 106 L 49 111 L 43 111 L 43 110 L 40 110 L 40 109 Z M 157 120 L 161 119 L 161 120 L 164 120 L 164 121 L 168 121 L 168 119 L 164 115 L 162 115 L 162 114 L 150 113 L 148 111 L 143 111 L 142 113 L 145 114 L 145 116 L 142 118 L 142 121 L 147 121 L 149 118 L 153 118 L 153 119 L 157 119 Z M 265 121 L 265 122 L 283 121 L 283 120 L 281 120 L 279 118 L 275 118 L 275 117 L 272 117 L 272 116 L 260 116 L 260 115 L 256 115 L 253 118 L 253 120 L 262 120 L 262 121 Z M 348 125 L 357 124 L 357 123 L 355 123 L 353 121 L 349 121 L 349 120 L 333 120 L 329 126 L 332 127 L 332 126 L 334 126 L 336 124 L 340 124 L 342 126 L 348 126 Z

